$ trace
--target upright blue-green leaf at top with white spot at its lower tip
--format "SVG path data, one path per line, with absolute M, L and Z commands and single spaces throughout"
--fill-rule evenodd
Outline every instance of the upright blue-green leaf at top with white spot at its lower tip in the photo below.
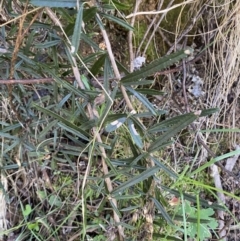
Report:
M 72 37 L 72 54 L 75 55 L 78 52 L 79 42 L 81 39 L 82 32 L 82 18 L 83 18 L 83 4 L 80 4 L 77 19 L 74 26 L 73 37 Z

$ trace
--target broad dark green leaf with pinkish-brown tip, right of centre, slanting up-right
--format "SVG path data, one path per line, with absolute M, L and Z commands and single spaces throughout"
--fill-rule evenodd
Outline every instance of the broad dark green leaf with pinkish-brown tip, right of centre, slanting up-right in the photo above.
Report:
M 168 128 L 168 130 L 162 134 L 160 137 L 158 137 L 148 148 L 148 152 L 154 152 L 161 148 L 162 145 L 164 145 L 166 142 L 169 141 L 169 139 L 173 136 L 175 136 L 179 131 L 184 129 L 186 126 L 191 124 L 194 120 L 196 120 L 198 116 L 196 116 L 193 113 L 185 114 L 182 116 L 179 116 L 176 119 L 176 122 Z

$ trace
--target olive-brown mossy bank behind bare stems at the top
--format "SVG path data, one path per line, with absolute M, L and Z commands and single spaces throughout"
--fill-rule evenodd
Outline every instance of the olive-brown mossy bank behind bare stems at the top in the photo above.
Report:
M 184 1 L 178 0 L 178 1 L 175 1 L 174 4 L 179 4 L 182 2 Z M 130 0 L 124 0 L 122 3 L 132 5 L 132 1 Z M 156 0 L 153 0 L 153 1 L 144 0 L 141 2 L 141 5 L 138 11 L 155 10 L 157 7 L 157 4 L 158 4 L 158 1 Z M 168 5 L 168 2 L 164 1 L 162 9 L 167 9 L 167 5 Z M 190 5 L 186 5 L 183 10 L 182 10 L 182 7 L 174 8 L 166 14 L 165 18 L 161 22 L 160 28 L 162 29 L 162 32 L 164 33 L 165 37 L 171 44 L 174 44 L 175 33 L 178 33 L 179 35 L 189 22 L 189 17 L 188 17 L 189 8 L 190 8 Z M 126 14 L 129 14 L 129 11 L 126 12 Z M 136 22 L 134 26 L 135 27 L 135 31 L 134 31 L 135 49 L 137 49 L 138 46 L 140 45 L 148 29 L 148 26 L 150 25 L 151 19 L 154 17 L 155 15 L 148 15 L 148 16 L 140 15 L 136 17 Z M 161 14 L 158 15 L 158 18 L 160 17 L 161 17 Z M 145 43 L 141 47 L 142 52 L 146 47 L 147 40 L 149 39 L 151 32 L 152 30 L 150 30 Z M 159 58 L 160 56 L 163 56 L 167 52 L 169 47 L 170 46 L 168 46 L 167 43 L 163 40 L 159 32 L 156 31 L 153 40 L 151 41 L 151 43 L 149 44 L 146 50 L 145 57 L 147 58 L 148 61 L 152 61 L 156 58 Z

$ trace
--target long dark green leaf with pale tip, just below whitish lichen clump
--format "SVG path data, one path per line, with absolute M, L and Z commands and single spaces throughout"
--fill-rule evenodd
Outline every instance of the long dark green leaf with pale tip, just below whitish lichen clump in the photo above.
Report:
M 178 62 L 179 60 L 186 58 L 189 54 L 191 54 L 192 49 L 180 50 L 176 53 L 166 55 L 160 59 L 153 61 L 151 64 L 143 67 L 140 70 L 134 71 L 131 74 L 126 75 L 121 79 L 121 83 L 138 81 L 139 79 L 146 78 L 147 76 L 153 75 L 156 72 L 163 70 L 167 67 L 170 67 L 174 63 Z

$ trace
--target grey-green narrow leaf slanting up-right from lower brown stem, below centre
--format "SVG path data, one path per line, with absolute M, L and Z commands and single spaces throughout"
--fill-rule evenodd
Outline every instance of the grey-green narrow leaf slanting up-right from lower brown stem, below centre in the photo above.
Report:
M 140 173 L 139 175 L 135 176 L 134 178 L 124 182 L 120 186 L 118 186 L 115 190 L 113 190 L 112 194 L 116 195 L 119 194 L 120 192 L 123 192 L 127 188 L 134 186 L 143 180 L 153 176 L 157 171 L 159 170 L 159 167 L 152 167 L 147 169 L 146 171 Z

